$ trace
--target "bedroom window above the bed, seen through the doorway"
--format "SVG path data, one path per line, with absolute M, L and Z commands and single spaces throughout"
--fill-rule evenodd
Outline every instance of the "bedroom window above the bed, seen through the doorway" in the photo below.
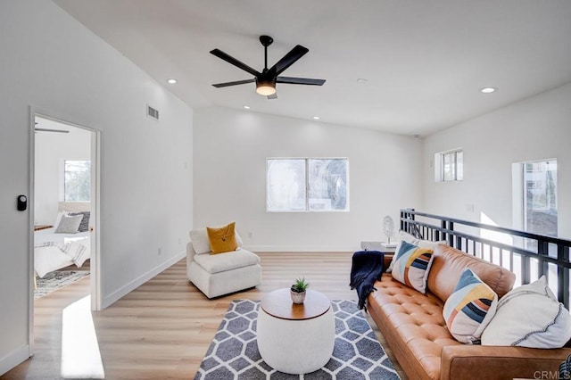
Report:
M 91 161 L 63 161 L 63 200 L 65 202 L 91 200 Z

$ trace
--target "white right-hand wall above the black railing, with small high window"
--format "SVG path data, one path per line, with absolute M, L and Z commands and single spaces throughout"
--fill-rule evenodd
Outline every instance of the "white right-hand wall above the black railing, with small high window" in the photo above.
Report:
M 464 149 L 464 180 L 434 182 L 434 153 Z M 511 166 L 558 160 L 559 236 L 571 237 L 571 84 L 426 137 L 426 211 L 480 221 L 482 213 L 512 226 Z M 467 205 L 474 205 L 468 211 Z

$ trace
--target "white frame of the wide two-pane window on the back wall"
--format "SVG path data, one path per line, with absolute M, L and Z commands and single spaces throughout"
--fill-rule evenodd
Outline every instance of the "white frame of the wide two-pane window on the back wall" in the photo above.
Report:
M 270 161 L 279 161 L 279 160 L 302 160 L 305 161 L 304 170 L 304 186 L 305 186 L 305 209 L 301 210 L 277 210 L 277 209 L 269 209 L 269 162 Z M 311 209 L 310 207 L 310 161 L 311 160 L 340 160 L 344 161 L 345 163 L 345 208 L 343 210 L 336 210 L 336 209 Z M 268 157 L 266 158 L 266 212 L 277 212 L 277 213 L 298 213 L 298 212 L 349 212 L 350 211 L 350 198 L 349 198 L 349 159 L 347 157 Z

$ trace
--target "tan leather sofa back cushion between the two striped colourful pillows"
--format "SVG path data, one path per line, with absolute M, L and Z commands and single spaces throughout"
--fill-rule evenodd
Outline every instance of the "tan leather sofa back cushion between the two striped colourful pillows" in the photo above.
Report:
M 516 275 L 506 268 L 478 259 L 449 245 L 440 244 L 434 248 L 434 261 L 428 274 L 428 289 L 446 302 L 466 268 L 472 269 L 477 277 L 498 294 L 498 298 L 508 293 L 516 280 Z

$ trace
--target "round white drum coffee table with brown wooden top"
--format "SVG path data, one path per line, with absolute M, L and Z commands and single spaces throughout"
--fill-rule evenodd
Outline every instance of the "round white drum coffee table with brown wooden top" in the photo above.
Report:
M 305 302 L 298 305 L 289 292 L 279 289 L 261 300 L 258 349 L 271 368 L 286 374 L 307 374 L 331 359 L 335 318 L 324 294 L 308 290 Z

